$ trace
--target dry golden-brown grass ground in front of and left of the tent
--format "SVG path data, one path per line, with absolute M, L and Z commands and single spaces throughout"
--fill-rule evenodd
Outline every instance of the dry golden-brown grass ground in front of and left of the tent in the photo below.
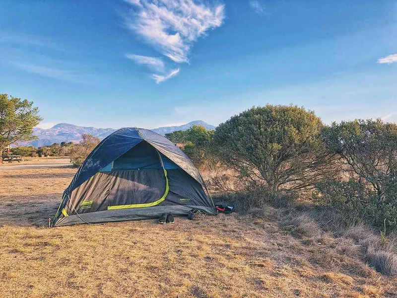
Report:
M 397 297 L 354 242 L 297 235 L 272 208 L 47 228 L 75 171 L 0 169 L 0 297 Z

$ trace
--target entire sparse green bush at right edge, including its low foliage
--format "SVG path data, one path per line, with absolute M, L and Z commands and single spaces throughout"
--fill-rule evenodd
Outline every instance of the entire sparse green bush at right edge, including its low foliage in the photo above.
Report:
M 342 121 L 325 129 L 324 141 L 354 174 L 348 182 L 319 184 L 320 201 L 349 221 L 397 229 L 397 125 L 380 119 Z

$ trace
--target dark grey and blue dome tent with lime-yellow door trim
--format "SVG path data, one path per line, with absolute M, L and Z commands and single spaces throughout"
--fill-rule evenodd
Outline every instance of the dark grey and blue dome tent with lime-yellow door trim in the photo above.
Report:
M 84 160 L 63 193 L 53 226 L 216 214 L 193 162 L 165 137 L 122 128 Z

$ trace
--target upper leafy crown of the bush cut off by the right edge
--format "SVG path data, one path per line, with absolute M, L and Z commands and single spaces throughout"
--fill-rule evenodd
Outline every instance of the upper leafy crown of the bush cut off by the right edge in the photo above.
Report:
M 397 173 L 397 125 L 382 120 L 342 121 L 324 131 L 327 147 L 362 181 L 383 194 L 383 176 Z

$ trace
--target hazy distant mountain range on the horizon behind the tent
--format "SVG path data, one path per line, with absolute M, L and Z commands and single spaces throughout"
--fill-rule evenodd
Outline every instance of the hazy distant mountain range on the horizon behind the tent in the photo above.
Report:
M 159 127 L 152 129 L 152 131 L 160 134 L 165 135 L 168 133 L 172 133 L 178 130 L 188 130 L 193 125 L 202 125 L 208 130 L 214 130 L 215 126 L 205 123 L 201 120 L 196 120 L 189 122 L 184 125 L 180 126 L 166 126 L 166 127 Z M 95 128 L 95 127 L 83 127 L 77 126 L 68 123 L 59 123 L 54 125 L 52 128 L 49 129 L 42 129 L 42 128 L 34 128 L 33 134 L 38 137 L 37 140 L 34 140 L 27 144 L 27 146 L 34 146 L 34 147 L 41 147 L 47 146 L 54 143 L 61 143 L 61 142 L 74 142 L 78 143 L 81 139 L 82 134 L 90 134 L 95 137 L 100 138 L 101 140 L 109 136 L 111 133 L 116 131 L 113 128 Z

